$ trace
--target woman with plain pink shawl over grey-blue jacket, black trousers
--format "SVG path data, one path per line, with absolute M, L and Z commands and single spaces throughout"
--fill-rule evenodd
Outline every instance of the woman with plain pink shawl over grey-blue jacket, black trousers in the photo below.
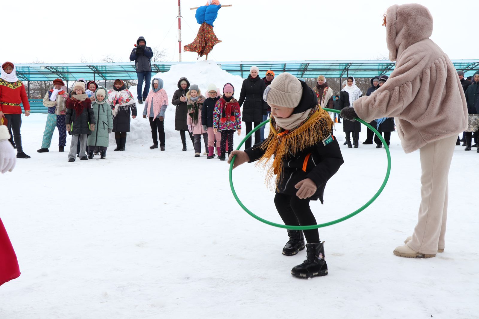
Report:
M 165 111 L 168 107 L 168 95 L 163 89 L 163 80 L 154 78 L 151 81 L 151 91 L 148 93 L 145 101 L 145 109 L 143 110 L 143 118 L 149 118 L 151 127 L 151 137 L 153 138 L 153 145 L 150 149 L 158 148 L 158 134 L 160 135 L 160 149 L 165 150 L 165 128 L 164 118 Z

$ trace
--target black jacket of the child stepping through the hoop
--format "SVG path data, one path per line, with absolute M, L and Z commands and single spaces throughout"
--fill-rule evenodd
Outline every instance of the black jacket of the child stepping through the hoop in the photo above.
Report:
M 303 95 L 296 109 L 304 111 L 315 106 L 318 100 L 316 93 L 311 90 L 305 82 L 301 82 L 301 84 L 303 85 Z M 317 200 L 319 198 L 321 203 L 323 203 L 326 182 L 339 170 L 344 162 L 338 141 L 332 136 L 331 128 L 325 127 L 324 130 L 325 134 L 331 134 L 329 138 L 325 139 L 324 143 L 322 140 L 319 140 L 315 145 L 297 154 L 290 153 L 290 156 L 282 160 L 284 171 L 282 172 L 276 193 L 296 195 L 297 189 L 295 185 L 306 178 L 310 178 L 316 183 L 318 189 L 309 199 Z M 264 150 L 260 148 L 260 146 L 261 143 L 258 143 L 245 150 L 250 157 L 250 163 L 260 159 L 264 154 Z M 310 154 L 310 157 L 306 164 L 306 171 L 303 171 L 303 165 L 308 154 Z

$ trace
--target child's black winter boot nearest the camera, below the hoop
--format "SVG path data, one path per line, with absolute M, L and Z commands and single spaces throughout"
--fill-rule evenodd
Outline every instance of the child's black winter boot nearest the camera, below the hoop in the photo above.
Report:
M 328 265 L 324 260 L 324 241 L 306 244 L 306 260 L 291 269 L 291 274 L 298 278 L 312 278 L 328 274 Z

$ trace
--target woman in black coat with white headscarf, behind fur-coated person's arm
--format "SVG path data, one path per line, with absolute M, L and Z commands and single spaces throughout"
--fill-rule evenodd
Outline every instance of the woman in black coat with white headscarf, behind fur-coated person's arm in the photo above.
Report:
M 363 96 L 361 90 L 356 86 L 356 81 L 353 77 L 348 77 L 346 86 L 341 90 L 339 95 L 339 107 L 342 110 L 345 107 L 353 106 L 353 102 Z M 358 121 L 348 121 L 343 119 L 342 130 L 346 133 L 346 142 L 348 148 L 351 145 L 351 132 L 353 133 L 354 148 L 359 146 L 359 132 L 361 132 L 361 123 Z

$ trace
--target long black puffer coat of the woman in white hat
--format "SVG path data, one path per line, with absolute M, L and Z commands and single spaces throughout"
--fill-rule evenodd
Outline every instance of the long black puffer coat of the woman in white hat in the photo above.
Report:
M 243 81 L 238 101 L 239 106 L 243 106 L 241 112 L 243 122 L 263 121 L 263 114 L 268 109 L 268 104 L 263 100 L 264 89 L 266 89 L 266 84 L 259 76 L 253 79 L 250 74 L 248 79 Z

